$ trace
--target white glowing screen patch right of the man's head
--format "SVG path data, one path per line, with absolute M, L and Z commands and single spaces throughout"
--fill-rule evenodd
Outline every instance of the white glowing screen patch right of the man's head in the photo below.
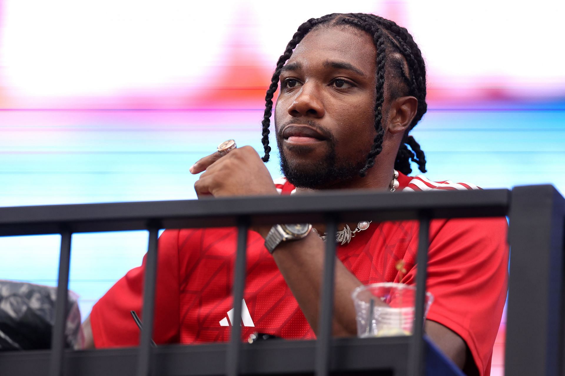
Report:
M 408 29 L 434 86 L 565 94 L 565 2 L 412 1 Z

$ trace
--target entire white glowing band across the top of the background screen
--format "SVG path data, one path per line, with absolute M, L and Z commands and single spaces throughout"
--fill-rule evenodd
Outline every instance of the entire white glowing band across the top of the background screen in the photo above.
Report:
M 206 86 L 234 49 L 271 69 L 297 26 L 373 12 L 414 35 L 429 86 L 563 95 L 565 2 L 6 0 L 2 82 L 29 96 L 180 95 Z M 537 15 L 543 15 L 537 16 Z

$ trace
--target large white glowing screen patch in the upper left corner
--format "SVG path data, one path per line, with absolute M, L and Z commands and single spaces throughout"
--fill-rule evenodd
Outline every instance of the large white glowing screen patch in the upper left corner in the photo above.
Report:
M 229 4 L 124 0 L 3 3 L 2 76 L 27 95 L 119 94 L 202 76 Z

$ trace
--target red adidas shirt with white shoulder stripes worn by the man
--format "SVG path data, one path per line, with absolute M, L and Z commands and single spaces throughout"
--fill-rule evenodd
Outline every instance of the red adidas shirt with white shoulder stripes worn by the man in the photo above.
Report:
M 429 182 L 399 176 L 400 189 L 473 189 L 471 184 Z M 294 187 L 276 182 L 282 194 Z M 363 284 L 415 283 L 418 221 L 371 223 L 337 256 Z M 481 375 L 490 374 L 494 339 L 506 300 L 508 249 L 505 218 L 433 220 L 430 225 L 428 319 L 462 337 Z M 153 339 L 157 343 L 202 343 L 229 339 L 230 296 L 236 228 L 172 229 L 159 238 Z M 255 331 L 283 338 L 314 339 L 263 238 L 247 241 L 247 278 L 242 304 L 242 338 Z M 402 279 L 399 260 L 406 269 Z M 96 347 L 134 346 L 139 330 L 129 311 L 141 313 L 145 258 L 121 278 L 90 314 Z M 352 301 L 353 304 L 353 301 Z

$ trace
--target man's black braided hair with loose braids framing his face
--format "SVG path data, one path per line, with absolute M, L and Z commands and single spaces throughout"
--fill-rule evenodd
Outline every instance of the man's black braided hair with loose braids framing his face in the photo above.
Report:
M 269 126 L 271 124 L 271 113 L 273 108 L 273 95 L 279 87 L 279 77 L 282 67 L 292 55 L 294 48 L 302 41 L 302 39 L 313 28 L 323 24 L 331 25 L 348 25 L 368 33 L 375 45 L 376 56 L 376 100 L 375 100 L 375 130 L 376 135 L 373 139 L 373 145 L 367 154 L 365 166 L 359 171 L 361 176 L 365 176 L 368 169 L 375 165 L 375 158 L 383 150 L 383 139 L 385 135 L 384 127 L 381 125 L 383 120 L 383 103 L 384 103 L 384 84 L 385 84 L 385 65 L 392 69 L 393 77 L 399 77 L 401 82 L 390 86 L 391 99 L 399 96 L 411 95 L 418 99 L 418 108 L 416 115 L 408 126 L 408 130 L 402 139 L 402 143 L 398 149 L 394 168 L 403 174 L 410 174 L 412 169 L 410 163 L 415 162 L 421 172 L 425 170 L 425 155 L 420 145 L 414 137 L 408 135 L 408 132 L 421 120 L 427 110 L 425 102 L 426 84 L 425 84 L 425 64 L 422 58 L 420 48 L 414 42 L 414 39 L 408 33 L 406 28 L 398 26 L 393 21 L 384 19 L 372 14 L 329 14 L 318 19 L 310 19 L 298 27 L 288 45 L 286 45 L 284 53 L 277 61 L 275 72 L 271 78 L 271 85 L 265 96 L 265 111 L 262 121 L 262 143 L 265 155 L 262 157 L 263 162 L 269 160 L 271 147 L 269 146 Z M 396 59 L 394 52 L 398 52 L 403 59 Z M 390 62 L 391 64 L 386 64 Z

